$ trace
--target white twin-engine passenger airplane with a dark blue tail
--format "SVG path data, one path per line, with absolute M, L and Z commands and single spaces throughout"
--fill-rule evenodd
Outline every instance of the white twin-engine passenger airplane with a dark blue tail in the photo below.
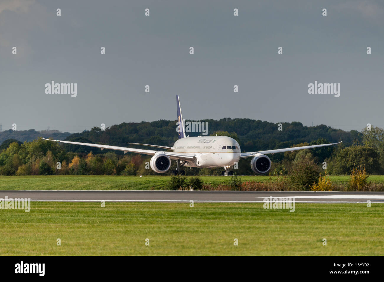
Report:
M 197 137 L 186 136 L 184 120 L 181 114 L 179 95 L 176 95 L 176 106 L 177 106 L 177 121 L 178 121 L 177 132 L 179 134 L 179 139 L 174 143 L 172 147 L 161 146 L 161 145 L 151 145 L 151 144 L 141 144 L 141 143 L 127 143 L 132 145 L 142 145 L 142 146 L 166 149 L 170 151 L 135 149 L 135 148 L 126 148 L 126 147 L 101 145 L 101 144 L 62 141 L 62 140 L 53 140 L 53 139 L 45 139 L 45 138 L 43 139 L 48 141 L 56 141 L 60 143 L 91 146 L 95 148 L 100 148 L 101 150 L 103 149 L 119 150 L 119 151 L 124 151 L 124 154 L 127 152 L 133 152 L 133 153 L 153 156 L 149 164 L 151 166 L 151 169 L 157 173 L 164 173 L 169 171 L 171 160 L 174 160 L 176 161 L 176 170 L 173 171 L 173 174 L 184 175 L 185 171 L 182 170 L 183 167 L 208 167 L 208 168 L 223 167 L 224 171 L 222 172 L 222 175 L 225 175 L 225 176 L 233 174 L 233 171 L 231 171 L 231 169 L 242 158 L 252 157 L 252 160 L 251 160 L 252 171 L 257 174 L 265 174 L 271 169 L 271 160 L 268 156 L 266 156 L 266 154 L 275 154 L 280 152 L 318 148 L 318 147 L 331 146 L 331 145 L 341 143 L 340 141 L 339 143 L 301 146 L 301 147 L 273 149 L 273 150 L 255 151 L 255 152 L 241 152 L 240 145 L 237 143 L 237 141 L 228 136 L 197 136 Z

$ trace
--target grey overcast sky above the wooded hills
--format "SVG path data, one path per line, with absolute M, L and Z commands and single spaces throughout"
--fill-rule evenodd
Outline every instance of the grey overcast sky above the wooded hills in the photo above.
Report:
M 176 120 L 176 94 L 187 120 L 384 127 L 382 1 L 257 2 L 1 0 L 3 130 Z M 315 80 L 340 97 L 308 94 Z

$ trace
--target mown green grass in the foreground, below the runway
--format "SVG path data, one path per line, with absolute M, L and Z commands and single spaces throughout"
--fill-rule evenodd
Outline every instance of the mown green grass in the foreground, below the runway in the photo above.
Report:
M 263 203 L 31 202 L 29 213 L 0 210 L 0 254 L 383 255 L 383 213 L 375 203 L 296 203 L 289 212 Z

